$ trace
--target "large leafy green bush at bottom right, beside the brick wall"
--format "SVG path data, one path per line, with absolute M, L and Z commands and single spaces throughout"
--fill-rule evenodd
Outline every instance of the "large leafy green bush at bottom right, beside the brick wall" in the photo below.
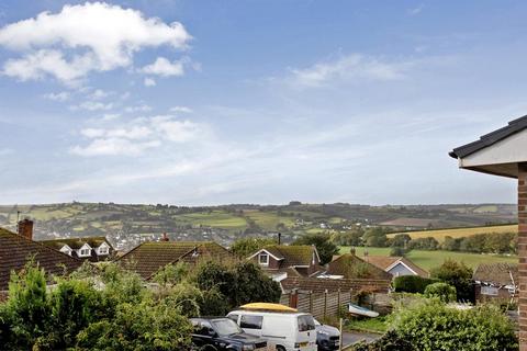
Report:
M 517 351 L 514 325 L 498 308 L 459 310 L 425 301 L 394 314 L 390 331 L 356 351 Z

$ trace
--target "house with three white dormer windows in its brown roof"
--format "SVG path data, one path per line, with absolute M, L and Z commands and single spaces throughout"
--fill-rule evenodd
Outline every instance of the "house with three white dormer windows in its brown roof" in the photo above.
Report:
M 90 262 L 108 261 L 115 253 L 113 246 L 105 237 L 68 238 L 41 242 L 68 256 Z

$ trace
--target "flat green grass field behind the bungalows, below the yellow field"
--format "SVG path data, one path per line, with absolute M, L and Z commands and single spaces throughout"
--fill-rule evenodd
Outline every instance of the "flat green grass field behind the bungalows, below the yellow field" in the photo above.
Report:
M 365 248 L 356 248 L 357 256 L 365 256 Z M 368 253 L 371 256 L 390 256 L 390 248 L 368 248 Z M 340 253 L 349 252 L 349 247 L 340 247 Z M 450 252 L 450 251 L 425 251 L 412 250 L 407 256 L 418 267 L 429 271 L 430 269 L 440 265 L 446 259 L 462 261 L 471 268 L 475 268 L 480 263 L 496 263 L 508 262 L 518 263 L 518 258 L 515 256 L 497 256 L 497 254 L 478 254 L 466 252 Z

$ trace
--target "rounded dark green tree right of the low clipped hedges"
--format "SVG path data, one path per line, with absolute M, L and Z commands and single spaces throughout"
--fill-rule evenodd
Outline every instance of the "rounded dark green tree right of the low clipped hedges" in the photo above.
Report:
M 472 269 L 463 262 L 445 260 L 445 262 L 430 271 L 430 276 L 456 287 L 458 301 L 473 301 Z

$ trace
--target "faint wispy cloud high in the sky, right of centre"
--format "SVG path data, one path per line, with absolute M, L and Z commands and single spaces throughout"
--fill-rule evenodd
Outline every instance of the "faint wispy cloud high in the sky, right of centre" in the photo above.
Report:
M 292 77 L 287 81 L 298 88 L 323 87 L 338 81 L 390 81 L 404 78 L 408 65 L 351 54 L 310 68 L 292 69 Z

